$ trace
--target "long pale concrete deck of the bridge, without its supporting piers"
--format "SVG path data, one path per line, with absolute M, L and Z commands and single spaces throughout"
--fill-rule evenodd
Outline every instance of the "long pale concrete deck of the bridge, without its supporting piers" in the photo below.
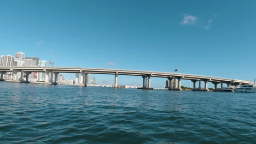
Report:
M 95 69 L 95 68 L 65 68 L 65 67 L 0 67 L 0 71 L 30 71 L 30 72 L 45 72 L 46 70 L 54 71 L 57 73 L 89 73 L 89 74 L 118 74 L 118 75 L 134 75 L 144 76 L 150 75 L 152 77 L 180 77 L 186 80 L 208 80 L 212 82 L 234 82 L 251 84 L 251 81 L 225 79 L 222 77 L 203 76 L 203 75 L 191 75 L 181 73 L 166 73 L 158 71 L 141 71 L 141 70 L 121 70 L 121 69 Z

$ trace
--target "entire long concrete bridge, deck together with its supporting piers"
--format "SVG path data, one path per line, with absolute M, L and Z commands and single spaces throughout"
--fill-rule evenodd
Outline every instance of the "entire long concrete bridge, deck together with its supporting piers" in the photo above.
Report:
M 80 73 L 80 85 L 87 86 L 87 76 L 88 74 L 110 74 L 115 75 L 115 83 L 114 87 L 118 88 L 118 75 L 134 75 L 134 76 L 142 76 L 143 77 L 143 89 L 150 89 L 151 87 L 151 77 L 164 77 L 168 79 L 168 89 L 169 90 L 181 90 L 181 80 L 191 80 L 194 91 L 207 91 L 208 82 L 212 82 L 214 84 L 214 89 L 217 90 L 217 85 L 220 83 L 221 88 L 223 88 L 223 83 L 229 87 L 230 85 L 239 85 L 243 84 L 252 84 L 251 81 L 244 80 L 235 80 L 235 79 L 225 79 L 221 77 L 212 77 L 212 76 L 202 76 L 202 75 L 191 75 L 191 74 L 181 74 L 181 73 L 165 73 L 158 71 L 141 71 L 141 70 L 121 70 L 121 69 L 95 69 L 95 68 L 65 68 L 65 67 L 0 67 L 1 81 L 3 80 L 3 75 L 7 72 L 13 72 L 13 81 L 19 81 L 17 74 L 23 73 L 26 74 L 26 81 L 28 81 L 28 75 L 32 72 L 45 73 L 45 83 L 52 83 L 53 85 L 57 85 L 57 75 L 59 73 Z M 53 81 L 53 75 L 55 79 Z M 20 81 L 23 82 L 22 77 L 20 77 Z M 176 85 L 176 81 L 178 81 L 178 85 Z M 205 82 L 205 87 L 201 87 L 201 81 Z M 199 88 L 196 88 L 196 82 L 199 82 Z

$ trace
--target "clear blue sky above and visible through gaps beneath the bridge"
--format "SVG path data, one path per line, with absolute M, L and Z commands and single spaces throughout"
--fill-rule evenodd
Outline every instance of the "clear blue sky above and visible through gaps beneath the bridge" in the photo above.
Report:
M 255 7 L 256 1 L 2 1 L 0 55 L 22 51 L 56 67 L 178 68 L 253 81 Z M 112 84 L 114 76 L 96 80 Z M 119 77 L 119 84 L 141 83 Z M 165 79 L 153 78 L 152 86 L 164 87 Z

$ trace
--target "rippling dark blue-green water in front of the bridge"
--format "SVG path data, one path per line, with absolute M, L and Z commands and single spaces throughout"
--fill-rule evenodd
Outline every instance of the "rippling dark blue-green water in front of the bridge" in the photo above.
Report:
M 0 143 L 256 143 L 256 94 L 0 82 Z

